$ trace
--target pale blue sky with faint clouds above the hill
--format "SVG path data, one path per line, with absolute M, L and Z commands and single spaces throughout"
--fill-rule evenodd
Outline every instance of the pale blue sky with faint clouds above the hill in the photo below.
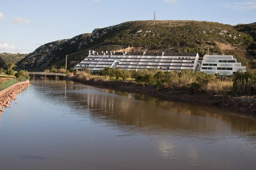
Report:
M 1 0 L 0 52 L 40 45 L 125 21 L 256 22 L 256 0 Z

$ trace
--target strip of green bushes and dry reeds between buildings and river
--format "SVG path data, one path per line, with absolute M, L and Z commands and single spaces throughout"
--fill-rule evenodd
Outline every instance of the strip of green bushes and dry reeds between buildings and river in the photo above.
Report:
M 103 81 L 132 81 L 141 85 L 154 85 L 158 89 L 187 90 L 190 93 L 209 94 L 256 94 L 256 71 L 237 71 L 233 76 L 206 74 L 193 70 L 166 71 L 122 70 L 104 68 L 99 75 L 91 75 L 88 70 L 77 71 L 75 77 L 80 82 L 90 79 Z

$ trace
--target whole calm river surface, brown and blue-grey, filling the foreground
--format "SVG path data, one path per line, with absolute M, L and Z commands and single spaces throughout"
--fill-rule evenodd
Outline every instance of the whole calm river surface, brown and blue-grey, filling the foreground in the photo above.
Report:
M 0 170 L 256 167 L 255 119 L 74 82 L 31 83 L 0 116 Z

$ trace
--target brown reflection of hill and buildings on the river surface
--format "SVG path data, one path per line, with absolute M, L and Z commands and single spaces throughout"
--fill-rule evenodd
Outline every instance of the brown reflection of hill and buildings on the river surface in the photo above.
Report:
M 51 96 L 49 100 L 66 100 L 65 103 L 80 110 L 76 114 L 83 116 L 88 114 L 83 110 L 89 110 L 91 120 L 108 123 L 115 128 L 124 128 L 125 125 L 126 129 L 139 128 L 140 132 L 147 133 L 186 131 L 190 134 L 256 130 L 254 119 L 213 107 L 161 101 L 74 82 L 46 81 L 42 85 L 48 85 L 50 91 L 44 95 Z

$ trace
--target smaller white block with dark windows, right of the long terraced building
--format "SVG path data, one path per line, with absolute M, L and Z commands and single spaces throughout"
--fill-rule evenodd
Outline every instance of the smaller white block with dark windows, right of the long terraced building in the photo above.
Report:
M 204 55 L 200 71 L 207 74 L 232 75 L 237 70 L 246 71 L 233 55 Z

